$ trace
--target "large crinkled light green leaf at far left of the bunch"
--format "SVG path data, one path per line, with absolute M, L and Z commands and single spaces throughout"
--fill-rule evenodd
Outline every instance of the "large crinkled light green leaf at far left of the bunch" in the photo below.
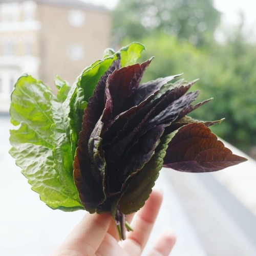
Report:
M 14 125 L 19 125 L 17 130 L 10 131 L 10 154 L 16 159 L 16 164 L 23 169 L 32 189 L 51 208 L 81 208 L 72 169 L 58 173 L 59 164 L 69 166 L 70 163 L 62 163 L 60 160 L 65 159 L 68 152 L 65 144 L 60 142 L 66 133 L 58 130 L 59 133 L 54 137 L 51 130 L 55 126 L 56 115 L 62 114 L 52 113 L 52 101 L 57 100 L 56 97 L 45 84 L 31 76 L 22 76 L 15 84 L 11 98 L 11 121 Z M 59 109 L 56 108 L 56 111 Z M 61 118 L 56 124 L 58 127 L 62 125 Z M 57 156 L 55 161 L 54 155 Z M 70 159 L 67 158 L 67 161 Z

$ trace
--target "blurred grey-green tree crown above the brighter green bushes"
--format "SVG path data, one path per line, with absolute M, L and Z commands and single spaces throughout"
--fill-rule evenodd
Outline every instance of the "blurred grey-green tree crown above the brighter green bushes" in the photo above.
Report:
M 113 12 L 113 40 L 140 40 L 162 31 L 201 45 L 214 37 L 219 21 L 212 0 L 120 0 Z

